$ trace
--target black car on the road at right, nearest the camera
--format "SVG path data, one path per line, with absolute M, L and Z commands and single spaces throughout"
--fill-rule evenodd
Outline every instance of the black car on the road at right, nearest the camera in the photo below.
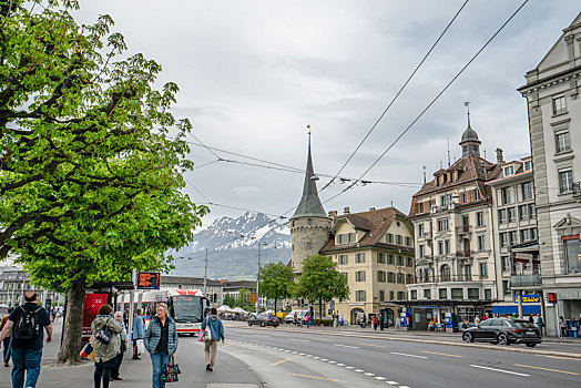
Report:
M 485 341 L 500 345 L 524 344 L 534 347 L 542 341 L 537 326 L 524 319 L 490 318 L 462 334 L 465 343 Z

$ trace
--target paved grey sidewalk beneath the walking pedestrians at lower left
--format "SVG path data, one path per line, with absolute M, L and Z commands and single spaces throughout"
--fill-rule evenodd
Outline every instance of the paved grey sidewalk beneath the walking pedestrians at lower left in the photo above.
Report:
M 54 367 L 60 344 L 61 324 L 54 325 L 54 341 L 45 345 L 43 367 L 40 374 L 39 387 L 92 387 L 93 363 L 75 367 Z M 222 345 L 221 345 L 222 346 Z M 132 360 L 131 350 L 125 353 L 121 365 L 122 381 L 113 381 L 110 387 L 118 388 L 146 388 L 151 387 L 151 361 L 147 355 L 142 355 L 141 360 Z M 182 375 L 175 386 L 194 388 L 258 388 L 263 384 L 258 376 L 239 359 L 220 351 L 213 372 L 205 371 L 203 344 L 194 337 L 180 337 L 180 345 L 175 355 Z M 12 364 L 11 364 L 12 365 Z M 0 388 L 10 388 L 10 374 L 12 368 L 0 369 Z

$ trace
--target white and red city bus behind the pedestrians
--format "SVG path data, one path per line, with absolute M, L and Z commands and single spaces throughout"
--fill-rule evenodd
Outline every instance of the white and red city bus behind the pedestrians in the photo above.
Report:
M 157 304 L 167 304 L 169 313 L 175 320 L 179 335 L 197 335 L 202 320 L 204 320 L 210 302 L 200 289 L 171 288 L 142 292 L 142 308 L 145 316 L 145 325 L 149 318 L 155 315 Z M 139 294 L 135 296 L 137 302 Z

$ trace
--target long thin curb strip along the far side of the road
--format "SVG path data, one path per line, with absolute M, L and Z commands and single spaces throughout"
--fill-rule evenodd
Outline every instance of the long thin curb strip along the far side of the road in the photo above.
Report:
M 231 328 L 242 328 L 245 330 L 252 329 L 251 327 L 245 326 L 231 326 Z M 293 329 L 277 329 L 278 331 L 285 333 L 305 333 L 300 330 Z M 476 344 L 466 344 L 466 343 L 451 343 L 442 340 L 427 340 L 419 338 L 397 338 L 397 337 L 377 337 L 368 335 L 358 335 L 358 334 L 345 334 L 345 333 L 322 333 L 322 331 L 309 331 L 309 334 L 317 336 L 335 336 L 335 337 L 351 337 L 351 338 L 365 338 L 365 339 L 383 339 L 383 340 L 398 340 L 401 343 L 416 343 L 416 344 L 431 344 L 431 345 L 448 345 L 448 346 L 461 346 L 461 347 L 472 347 L 477 349 L 489 349 L 489 350 L 499 350 L 499 351 L 511 351 L 511 353 L 523 353 L 529 355 L 541 355 L 541 356 L 554 356 L 554 357 L 567 357 L 567 358 L 577 358 L 581 359 L 581 354 L 579 353 L 557 353 L 551 350 L 531 350 L 531 349 L 521 349 L 521 348 L 510 348 L 508 346 L 499 347 L 491 345 L 476 345 Z

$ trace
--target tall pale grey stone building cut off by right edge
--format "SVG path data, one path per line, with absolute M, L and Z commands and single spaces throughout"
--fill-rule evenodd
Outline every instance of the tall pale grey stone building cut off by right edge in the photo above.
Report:
M 581 13 L 519 92 L 527 99 L 549 335 L 581 315 Z

